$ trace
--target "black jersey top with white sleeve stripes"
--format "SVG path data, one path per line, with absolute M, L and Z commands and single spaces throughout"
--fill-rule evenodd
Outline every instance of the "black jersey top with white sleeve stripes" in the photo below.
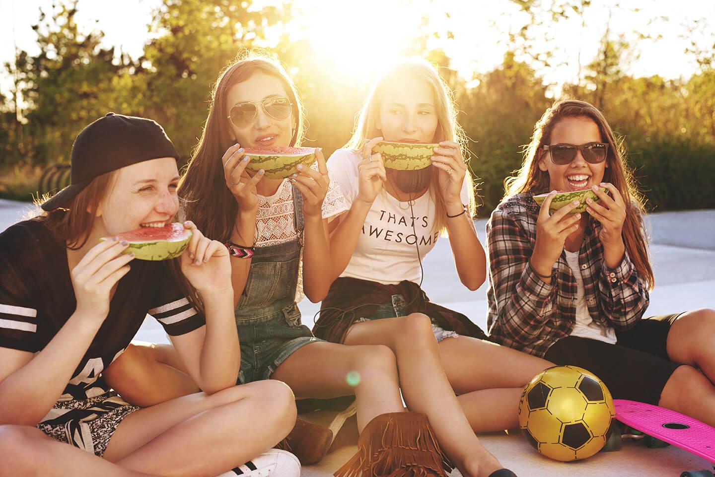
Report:
M 109 315 L 67 383 L 60 400 L 85 399 L 109 388 L 100 373 L 127 348 L 144 317 L 169 335 L 189 333 L 204 317 L 179 288 L 167 262 L 132 260 L 109 305 Z M 77 308 L 64 242 L 41 220 L 0 234 L 0 347 L 36 353 Z

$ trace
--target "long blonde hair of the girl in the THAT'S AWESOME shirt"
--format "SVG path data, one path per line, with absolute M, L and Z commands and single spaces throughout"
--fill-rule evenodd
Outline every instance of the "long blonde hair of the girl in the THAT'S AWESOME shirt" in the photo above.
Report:
M 405 77 L 422 79 L 426 82 L 435 94 L 435 109 L 437 114 L 437 130 L 435 131 L 434 142 L 453 141 L 459 144 L 463 155 L 468 157 L 466 148 L 467 137 L 463 129 L 457 122 L 457 109 L 455 108 L 454 97 L 435 67 L 424 59 L 409 59 L 395 64 L 388 69 L 385 74 L 375 82 L 373 89 L 368 94 L 363 107 L 358 112 L 356 118 L 355 132 L 352 133 L 350 141 L 345 144 L 347 149 L 362 151 L 365 143 L 373 137 L 378 137 L 382 132 L 375 126 L 375 119 L 380 114 L 380 104 L 385 100 L 385 89 L 391 82 L 400 82 Z M 468 210 L 472 217 L 476 212 L 476 202 L 474 199 L 474 185 L 472 176 L 467 169 L 466 180 L 469 184 Z M 442 235 L 447 232 L 447 210 L 445 209 L 444 197 L 439 187 L 438 174 L 432 174 L 428 192 L 435 201 L 435 212 L 437 220 L 435 225 Z

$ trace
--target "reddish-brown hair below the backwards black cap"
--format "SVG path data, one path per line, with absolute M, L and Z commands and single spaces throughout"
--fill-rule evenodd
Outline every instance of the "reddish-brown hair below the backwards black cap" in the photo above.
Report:
M 33 220 L 43 222 L 58 240 L 67 244 L 70 250 L 82 248 L 89 240 L 94 220 L 97 220 L 99 202 L 107 197 L 114 184 L 117 171 L 106 172 L 94 177 L 89 184 L 75 195 L 64 207 L 44 212 L 41 205 L 49 200 L 49 195 L 44 195 L 35 201 L 38 214 Z

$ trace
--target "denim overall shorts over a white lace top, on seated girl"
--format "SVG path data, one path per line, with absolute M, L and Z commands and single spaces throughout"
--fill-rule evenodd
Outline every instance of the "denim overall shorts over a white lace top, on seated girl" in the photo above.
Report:
M 302 195 L 295 186 L 293 207 L 298 237 L 255 248 L 246 286 L 234 311 L 241 342 L 239 384 L 270 378 L 295 350 L 322 341 L 301 324 L 295 303 L 304 228 Z

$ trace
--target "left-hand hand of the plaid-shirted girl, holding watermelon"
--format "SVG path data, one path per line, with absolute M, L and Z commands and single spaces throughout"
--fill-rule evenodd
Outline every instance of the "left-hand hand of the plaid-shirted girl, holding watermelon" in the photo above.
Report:
M 553 264 L 563 251 L 566 237 L 578 230 L 578 221 L 581 220 L 581 214 L 568 213 L 578 207 L 578 200 L 573 200 L 553 215 L 548 215 L 553 197 L 556 197 L 555 190 L 546 196 L 536 220 L 536 244 L 531 254 L 531 266 L 540 275 L 551 275 Z

